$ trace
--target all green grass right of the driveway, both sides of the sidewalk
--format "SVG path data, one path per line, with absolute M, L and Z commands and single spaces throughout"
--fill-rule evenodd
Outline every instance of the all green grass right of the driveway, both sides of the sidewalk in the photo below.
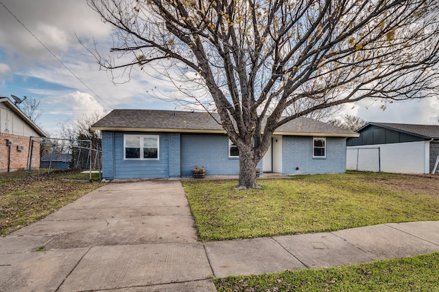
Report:
M 183 182 L 202 241 L 439 220 L 439 176 L 348 172 Z M 439 291 L 439 253 L 373 263 L 214 279 L 218 291 Z

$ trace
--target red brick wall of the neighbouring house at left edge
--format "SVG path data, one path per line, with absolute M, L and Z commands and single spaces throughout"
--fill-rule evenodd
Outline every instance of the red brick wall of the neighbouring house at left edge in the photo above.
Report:
M 27 153 L 29 151 L 29 137 L 16 136 L 12 134 L 0 133 L 0 172 L 8 171 L 9 147 L 6 140 L 12 140 L 10 171 L 25 169 L 27 165 Z M 23 151 L 16 149 L 17 145 L 23 145 Z M 40 167 L 40 143 L 34 143 L 32 151 L 32 168 Z

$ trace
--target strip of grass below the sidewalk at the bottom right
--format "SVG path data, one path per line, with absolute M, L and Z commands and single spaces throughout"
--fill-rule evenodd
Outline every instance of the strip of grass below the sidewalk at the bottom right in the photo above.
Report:
M 218 291 L 439 291 L 439 252 L 373 263 L 214 280 Z

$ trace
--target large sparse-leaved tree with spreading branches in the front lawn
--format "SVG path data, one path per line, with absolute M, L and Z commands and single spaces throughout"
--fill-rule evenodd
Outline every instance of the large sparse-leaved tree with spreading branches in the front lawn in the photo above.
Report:
M 239 149 L 238 188 L 258 186 L 254 169 L 280 125 L 364 98 L 429 97 L 437 87 L 437 0 L 88 5 L 115 29 L 110 55 L 97 53 L 105 69 L 151 66 L 194 104 L 214 101 Z

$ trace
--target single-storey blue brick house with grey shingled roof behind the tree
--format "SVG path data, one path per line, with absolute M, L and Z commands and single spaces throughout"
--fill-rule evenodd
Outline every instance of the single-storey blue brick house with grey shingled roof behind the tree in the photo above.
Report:
M 91 127 L 102 131 L 107 180 L 179 178 L 204 166 L 206 175 L 238 175 L 239 153 L 219 114 L 167 110 L 113 110 Z M 283 173 L 344 173 L 346 138 L 357 133 L 313 119 L 278 127 L 258 167 Z

